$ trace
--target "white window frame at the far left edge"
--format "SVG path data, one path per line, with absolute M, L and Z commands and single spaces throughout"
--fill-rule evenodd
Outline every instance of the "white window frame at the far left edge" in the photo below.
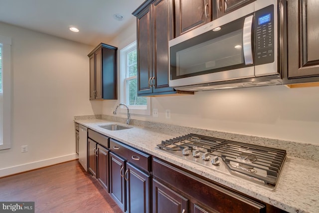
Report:
M 2 100 L 3 111 L 0 112 L 2 138 L 0 139 L 0 150 L 11 148 L 11 38 L 0 35 L 2 44 Z

